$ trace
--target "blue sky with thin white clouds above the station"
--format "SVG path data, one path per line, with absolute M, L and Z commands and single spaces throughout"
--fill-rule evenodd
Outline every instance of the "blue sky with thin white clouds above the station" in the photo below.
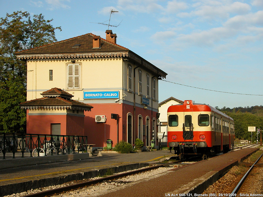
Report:
M 168 74 L 159 102 L 263 105 L 263 0 L 0 0 L 0 18 L 14 11 L 53 19 L 58 41 L 105 38 L 108 26 L 98 23 L 110 18 L 117 44 Z

